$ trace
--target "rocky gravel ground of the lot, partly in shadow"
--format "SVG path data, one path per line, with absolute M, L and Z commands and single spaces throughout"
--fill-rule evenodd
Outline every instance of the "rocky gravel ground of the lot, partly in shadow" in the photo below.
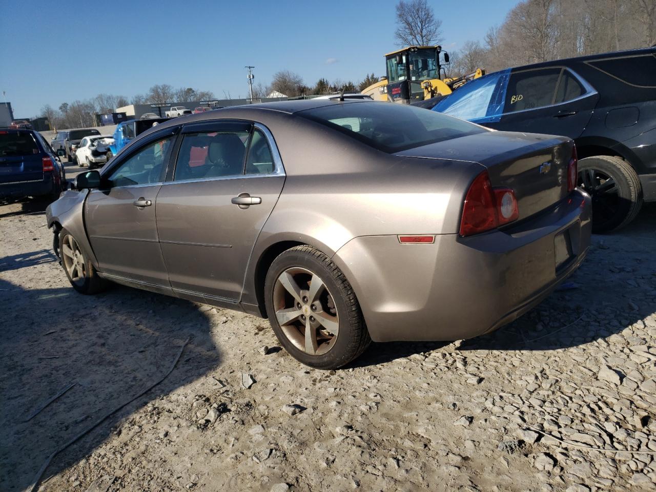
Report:
M 329 372 L 266 320 L 127 287 L 78 295 L 43 209 L 0 206 L 3 491 L 161 379 L 188 338 L 39 490 L 656 490 L 656 207 L 594 237 L 565 289 L 496 333 L 373 344 Z

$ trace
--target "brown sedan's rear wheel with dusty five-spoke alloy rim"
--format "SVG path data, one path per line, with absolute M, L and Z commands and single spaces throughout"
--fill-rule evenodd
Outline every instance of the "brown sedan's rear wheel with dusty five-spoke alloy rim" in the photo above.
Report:
M 297 246 L 279 255 L 266 275 L 264 292 L 276 337 L 310 367 L 337 369 L 371 343 L 350 283 L 313 247 Z

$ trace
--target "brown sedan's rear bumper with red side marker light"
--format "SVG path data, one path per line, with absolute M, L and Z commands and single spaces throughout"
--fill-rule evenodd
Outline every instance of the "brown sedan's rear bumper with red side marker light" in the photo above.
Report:
M 514 228 L 436 236 L 432 245 L 356 237 L 333 260 L 352 283 L 373 340 L 472 338 L 522 316 L 581 265 L 590 218 L 590 197 L 577 191 Z

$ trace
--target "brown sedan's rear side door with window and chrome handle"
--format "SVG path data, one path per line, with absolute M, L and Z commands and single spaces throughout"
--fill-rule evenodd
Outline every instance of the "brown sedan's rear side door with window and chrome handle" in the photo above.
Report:
M 174 174 L 157 196 L 171 287 L 239 301 L 253 245 L 285 176 L 268 130 L 243 122 L 185 125 Z

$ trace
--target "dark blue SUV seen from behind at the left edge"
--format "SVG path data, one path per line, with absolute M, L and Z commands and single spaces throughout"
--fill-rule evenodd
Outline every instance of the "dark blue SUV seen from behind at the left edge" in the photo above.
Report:
M 0 129 L 0 199 L 57 199 L 65 183 L 64 167 L 41 134 Z

